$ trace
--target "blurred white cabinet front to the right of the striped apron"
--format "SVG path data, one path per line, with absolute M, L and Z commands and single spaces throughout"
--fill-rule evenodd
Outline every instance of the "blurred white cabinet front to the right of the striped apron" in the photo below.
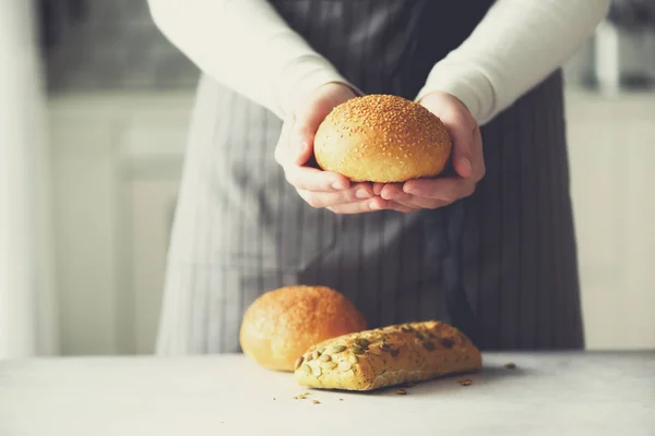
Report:
M 568 97 L 587 347 L 655 348 L 655 95 Z

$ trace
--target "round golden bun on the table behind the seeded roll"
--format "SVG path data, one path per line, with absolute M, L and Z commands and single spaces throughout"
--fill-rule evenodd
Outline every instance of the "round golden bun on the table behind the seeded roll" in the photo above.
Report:
M 243 354 L 260 365 L 293 372 L 311 346 L 365 329 L 364 315 L 342 293 L 293 286 L 269 291 L 248 307 L 240 342 Z

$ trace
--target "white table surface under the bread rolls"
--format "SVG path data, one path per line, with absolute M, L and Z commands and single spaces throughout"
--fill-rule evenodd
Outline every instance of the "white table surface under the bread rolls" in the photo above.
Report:
M 469 378 L 313 404 L 242 355 L 10 361 L 0 435 L 655 435 L 655 352 L 485 354 Z

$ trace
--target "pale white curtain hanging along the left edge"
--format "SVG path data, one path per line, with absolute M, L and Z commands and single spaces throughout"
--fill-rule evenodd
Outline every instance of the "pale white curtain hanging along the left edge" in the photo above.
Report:
M 35 11 L 0 2 L 0 359 L 59 350 L 48 101 Z

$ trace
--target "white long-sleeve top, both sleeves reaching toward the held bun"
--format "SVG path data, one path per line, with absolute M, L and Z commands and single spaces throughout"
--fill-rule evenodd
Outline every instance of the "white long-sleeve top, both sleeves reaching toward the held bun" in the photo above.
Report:
M 329 82 L 349 84 L 266 0 L 148 0 L 156 25 L 204 73 L 281 118 Z M 432 68 L 417 99 L 442 90 L 480 124 L 561 66 L 595 32 L 609 0 L 497 0 Z

